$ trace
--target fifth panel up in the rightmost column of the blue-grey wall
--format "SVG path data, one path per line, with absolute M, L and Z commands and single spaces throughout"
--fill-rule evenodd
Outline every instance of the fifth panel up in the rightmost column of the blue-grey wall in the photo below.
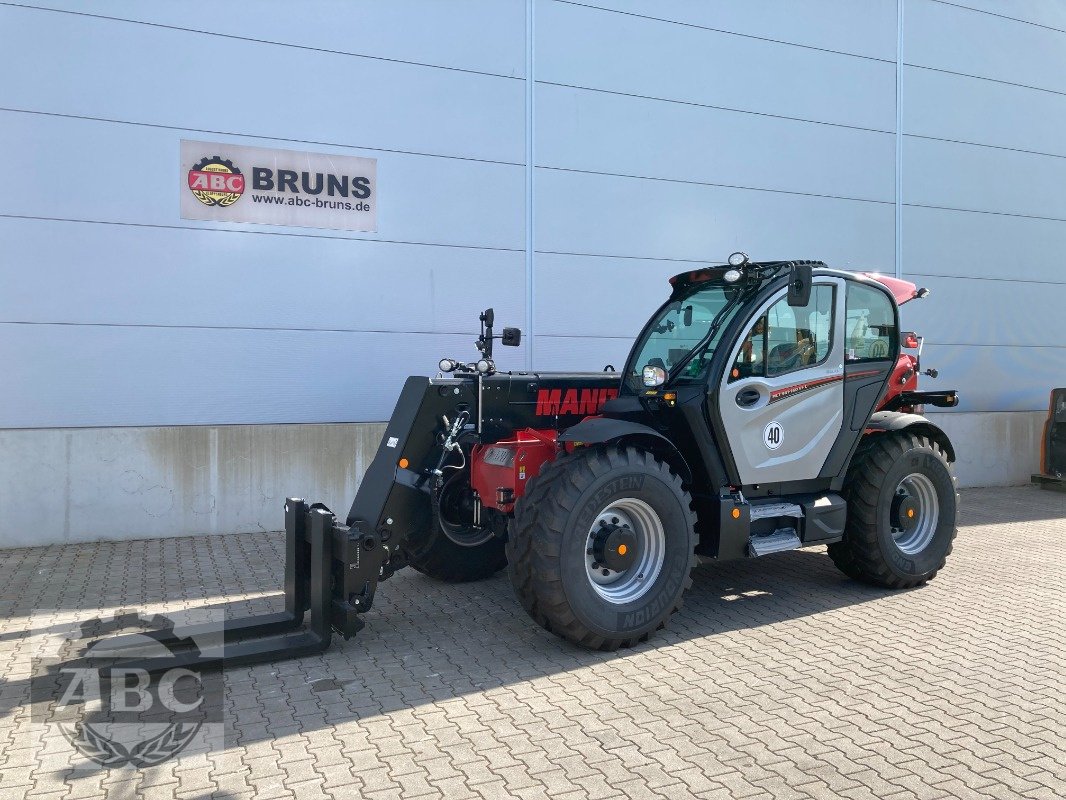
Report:
M 1066 157 L 1064 95 L 914 67 L 903 85 L 905 133 Z

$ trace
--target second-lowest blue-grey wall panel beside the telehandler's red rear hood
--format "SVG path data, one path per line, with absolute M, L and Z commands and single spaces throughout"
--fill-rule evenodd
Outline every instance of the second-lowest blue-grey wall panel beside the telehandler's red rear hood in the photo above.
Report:
M 903 307 L 903 324 L 932 342 L 1066 347 L 1059 324 L 1066 310 L 1066 275 L 1060 284 L 907 277 L 932 294 Z

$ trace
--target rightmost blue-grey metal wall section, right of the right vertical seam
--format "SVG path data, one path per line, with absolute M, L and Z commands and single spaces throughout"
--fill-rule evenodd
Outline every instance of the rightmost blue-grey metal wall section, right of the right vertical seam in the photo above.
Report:
M 1066 4 L 906 0 L 903 62 L 902 260 L 934 290 L 908 319 L 964 409 L 1046 410 L 1066 384 Z

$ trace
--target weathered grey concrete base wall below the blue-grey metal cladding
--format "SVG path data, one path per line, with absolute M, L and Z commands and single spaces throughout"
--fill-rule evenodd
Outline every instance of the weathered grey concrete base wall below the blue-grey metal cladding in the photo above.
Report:
M 964 486 L 1027 483 L 1046 413 L 946 413 Z M 295 495 L 348 514 L 385 425 L 0 430 L 0 547 L 279 530 Z

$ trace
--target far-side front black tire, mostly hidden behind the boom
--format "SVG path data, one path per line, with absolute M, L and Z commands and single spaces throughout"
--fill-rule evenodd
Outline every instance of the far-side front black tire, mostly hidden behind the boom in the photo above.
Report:
M 469 485 L 469 473 L 464 470 L 454 475 L 449 485 Z M 427 524 L 421 530 L 410 534 L 404 545 L 407 563 L 423 575 L 448 583 L 465 583 L 471 580 L 484 580 L 496 575 L 507 565 L 504 544 L 501 537 L 483 535 L 478 530 L 459 528 L 456 539 L 465 537 L 468 542 L 479 544 L 459 544 L 449 538 L 441 524 L 440 511 L 436 500 L 431 500 L 432 511 Z M 455 530 L 453 526 L 452 530 Z

